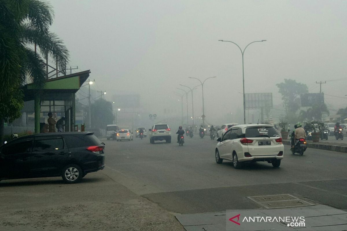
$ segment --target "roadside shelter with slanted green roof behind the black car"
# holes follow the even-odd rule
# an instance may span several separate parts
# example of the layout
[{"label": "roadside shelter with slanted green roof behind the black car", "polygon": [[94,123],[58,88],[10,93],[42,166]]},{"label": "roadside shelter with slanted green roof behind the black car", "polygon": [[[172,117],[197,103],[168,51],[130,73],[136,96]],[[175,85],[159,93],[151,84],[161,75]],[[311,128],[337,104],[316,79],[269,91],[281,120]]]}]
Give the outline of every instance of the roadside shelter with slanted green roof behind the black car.
[{"label": "roadside shelter with slanted green roof behind the black car", "polygon": [[65,131],[74,131],[76,125],[75,94],[88,79],[90,70],[69,74],[45,81],[38,89],[33,83],[23,86],[24,101],[34,100],[35,133],[40,133],[48,113],[57,119],[65,117]]}]

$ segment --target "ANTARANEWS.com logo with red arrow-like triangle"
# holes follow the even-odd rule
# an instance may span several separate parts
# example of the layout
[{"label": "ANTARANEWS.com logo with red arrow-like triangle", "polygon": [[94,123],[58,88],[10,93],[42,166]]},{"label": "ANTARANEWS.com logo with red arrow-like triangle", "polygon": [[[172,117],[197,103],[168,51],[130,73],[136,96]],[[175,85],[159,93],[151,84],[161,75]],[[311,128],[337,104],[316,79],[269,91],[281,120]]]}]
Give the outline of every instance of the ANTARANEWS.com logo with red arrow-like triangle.
[{"label": "ANTARANEWS.com logo with red arrow-like triangle", "polygon": [[[241,214],[233,216],[229,221],[241,225],[238,221]],[[237,218],[237,221],[235,221]],[[245,222],[276,222],[276,223],[286,223],[290,227],[304,227],[305,217],[304,216],[245,216],[242,219],[242,223]]]}]

